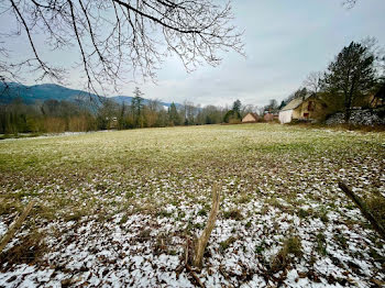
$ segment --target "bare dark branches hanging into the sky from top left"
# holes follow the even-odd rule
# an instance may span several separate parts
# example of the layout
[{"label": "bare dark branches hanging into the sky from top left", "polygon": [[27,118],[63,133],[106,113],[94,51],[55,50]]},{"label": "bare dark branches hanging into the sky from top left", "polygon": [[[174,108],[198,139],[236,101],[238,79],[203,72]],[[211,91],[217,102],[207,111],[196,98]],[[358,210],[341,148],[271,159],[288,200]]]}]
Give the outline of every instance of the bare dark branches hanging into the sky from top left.
[{"label": "bare dark branches hanging into the sky from top left", "polygon": [[[25,70],[63,81],[65,67],[44,57],[36,34],[50,48],[75,49],[91,91],[118,87],[132,73],[153,78],[162,60],[177,55],[187,70],[221,62],[220,52],[243,53],[242,33],[231,24],[230,2],[215,0],[6,0],[0,13],[15,19],[16,31],[0,31],[0,77],[12,80]],[[10,27],[2,27],[2,30]],[[12,27],[14,29],[14,27]],[[1,30],[1,29],[0,29]],[[4,38],[28,38],[32,57],[8,60]],[[2,40],[1,40],[2,38]]]}]

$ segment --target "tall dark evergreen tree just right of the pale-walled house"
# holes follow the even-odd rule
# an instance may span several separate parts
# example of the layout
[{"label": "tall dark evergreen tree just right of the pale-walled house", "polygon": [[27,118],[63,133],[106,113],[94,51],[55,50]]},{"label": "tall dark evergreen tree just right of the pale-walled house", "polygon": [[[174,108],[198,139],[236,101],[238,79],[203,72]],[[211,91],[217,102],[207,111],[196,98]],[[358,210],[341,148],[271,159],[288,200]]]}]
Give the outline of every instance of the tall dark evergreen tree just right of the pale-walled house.
[{"label": "tall dark evergreen tree just right of the pale-walled house", "polygon": [[374,55],[361,43],[352,42],[343,47],[329,64],[324,85],[336,96],[343,97],[345,122],[350,119],[354,100],[370,91],[375,80]]}]

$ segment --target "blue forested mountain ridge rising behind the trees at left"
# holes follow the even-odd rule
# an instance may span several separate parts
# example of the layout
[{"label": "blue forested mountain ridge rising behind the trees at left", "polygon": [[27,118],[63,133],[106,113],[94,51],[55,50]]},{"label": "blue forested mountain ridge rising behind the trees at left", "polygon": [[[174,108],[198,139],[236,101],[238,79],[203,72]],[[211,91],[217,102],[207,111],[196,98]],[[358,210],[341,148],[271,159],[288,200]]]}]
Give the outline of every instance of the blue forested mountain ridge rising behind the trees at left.
[{"label": "blue forested mountain ridge rising behind the trees at left", "polygon": [[[0,82],[0,104],[10,103],[16,98],[21,98],[26,104],[33,104],[36,101],[44,102],[45,100],[50,99],[57,101],[66,100],[70,102],[100,103],[100,100],[103,99],[103,97],[98,97],[94,93],[88,93],[82,90],[69,89],[55,84],[25,86],[15,82]],[[129,96],[113,96],[108,99],[111,99],[119,104],[123,102],[125,104],[130,104],[132,101],[132,97]],[[147,103],[148,101],[148,99],[144,99],[144,103]],[[170,106],[170,103],[166,102],[161,102],[161,104],[164,107]]]}]

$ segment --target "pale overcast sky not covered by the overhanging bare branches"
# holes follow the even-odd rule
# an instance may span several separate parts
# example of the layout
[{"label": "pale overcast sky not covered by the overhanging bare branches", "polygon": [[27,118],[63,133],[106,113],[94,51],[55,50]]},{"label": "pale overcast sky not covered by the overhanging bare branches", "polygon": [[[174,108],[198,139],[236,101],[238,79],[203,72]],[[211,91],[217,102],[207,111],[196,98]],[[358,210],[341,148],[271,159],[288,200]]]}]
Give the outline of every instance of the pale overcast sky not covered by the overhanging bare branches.
[{"label": "pale overcast sky not covered by the overhanging bare branches", "polygon": [[[264,106],[271,99],[279,102],[298,89],[310,71],[324,70],[351,41],[372,36],[380,46],[385,46],[385,1],[359,0],[352,9],[343,7],[342,1],[233,0],[234,24],[244,31],[246,57],[229,52],[222,55],[219,67],[204,65],[193,73],[187,73],[176,57],[169,57],[157,71],[155,84],[128,84],[121,87],[120,95],[132,96],[138,86],[144,98],[166,102],[188,100],[202,106],[231,106],[237,99],[253,106]],[[0,25],[12,22],[0,16]],[[9,41],[14,42],[11,45],[18,53],[29,53],[30,47],[20,45],[20,38]],[[73,51],[59,55],[61,59],[73,57]],[[69,75],[67,87],[82,88],[77,69]],[[26,84],[35,82],[28,78]]]}]

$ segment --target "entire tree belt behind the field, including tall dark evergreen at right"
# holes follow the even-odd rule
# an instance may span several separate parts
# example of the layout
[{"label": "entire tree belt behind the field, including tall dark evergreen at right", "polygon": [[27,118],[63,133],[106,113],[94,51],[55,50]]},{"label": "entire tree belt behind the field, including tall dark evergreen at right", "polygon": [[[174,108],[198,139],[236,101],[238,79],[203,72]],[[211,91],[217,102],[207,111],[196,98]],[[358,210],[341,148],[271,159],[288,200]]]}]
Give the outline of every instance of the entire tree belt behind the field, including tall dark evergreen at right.
[{"label": "entire tree belt behind the field, including tall dark evergreen at right", "polygon": [[98,106],[80,102],[46,100],[25,104],[15,99],[0,104],[0,133],[59,133],[65,131],[95,131],[106,129],[163,128],[176,125],[202,125],[240,123],[249,112],[260,115],[277,113],[295,98],[314,93],[324,103],[318,118],[342,111],[345,121],[354,107],[370,108],[373,101],[384,104],[385,54],[375,46],[374,40],[351,42],[343,47],[324,71],[310,73],[304,87],[277,103],[272,99],[265,107],[242,106],[240,100],[232,107],[195,106],[185,101],[164,107],[157,100],[144,100],[139,88],[131,103],[117,103],[108,98]]}]

